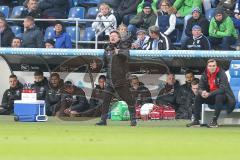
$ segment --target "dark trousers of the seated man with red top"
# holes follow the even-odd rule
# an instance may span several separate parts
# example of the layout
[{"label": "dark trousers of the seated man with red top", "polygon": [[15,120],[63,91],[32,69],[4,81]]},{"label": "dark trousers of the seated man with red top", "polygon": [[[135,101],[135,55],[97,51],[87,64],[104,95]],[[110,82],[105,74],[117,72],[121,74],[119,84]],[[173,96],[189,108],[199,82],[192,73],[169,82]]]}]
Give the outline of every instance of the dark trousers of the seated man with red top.
[{"label": "dark trousers of the seated man with red top", "polygon": [[202,111],[202,104],[214,105],[215,113],[213,118],[217,120],[225,103],[226,103],[225,94],[217,94],[214,96],[209,96],[208,98],[203,98],[201,95],[197,95],[195,99],[195,110],[194,110],[195,120],[201,119],[200,114]]}]

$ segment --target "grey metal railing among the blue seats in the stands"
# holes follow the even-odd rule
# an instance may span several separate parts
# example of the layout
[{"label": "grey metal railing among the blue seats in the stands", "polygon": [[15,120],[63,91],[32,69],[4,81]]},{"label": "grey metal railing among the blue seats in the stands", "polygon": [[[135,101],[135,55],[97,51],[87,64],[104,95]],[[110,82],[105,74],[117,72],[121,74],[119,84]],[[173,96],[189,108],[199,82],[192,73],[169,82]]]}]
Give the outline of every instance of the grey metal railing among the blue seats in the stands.
[{"label": "grey metal railing among the blue seats in the stands", "polygon": [[[23,21],[24,19],[23,18],[8,18],[6,19],[8,22],[11,22],[11,21]],[[43,21],[43,22],[53,22],[53,21],[63,21],[63,22],[75,22],[75,27],[76,27],[76,35],[75,35],[75,48],[78,49],[78,44],[79,43],[90,43],[90,44],[95,44],[95,49],[98,48],[98,36],[100,34],[102,34],[107,28],[109,28],[111,24],[109,24],[109,26],[103,28],[101,31],[99,32],[96,32],[95,31],[95,41],[80,41],[78,39],[78,35],[80,33],[78,33],[78,28],[79,28],[79,24],[81,24],[82,22],[111,22],[109,20],[95,20],[95,19],[80,19],[80,18],[69,18],[69,19],[34,19],[35,22],[38,22],[38,21]],[[104,42],[100,42],[100,43],[104,43]]]}]

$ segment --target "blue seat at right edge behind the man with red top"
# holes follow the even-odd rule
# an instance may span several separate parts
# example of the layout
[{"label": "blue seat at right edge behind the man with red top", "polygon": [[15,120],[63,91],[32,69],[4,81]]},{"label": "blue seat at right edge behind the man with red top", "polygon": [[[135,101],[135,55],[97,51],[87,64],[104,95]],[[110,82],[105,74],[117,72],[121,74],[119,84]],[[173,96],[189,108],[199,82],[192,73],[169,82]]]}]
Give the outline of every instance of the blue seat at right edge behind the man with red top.
[{"label": "blue seat at right edge behind the man with red top", "polygon": [[230,86],[236,99],[236,107],[240,108],[240,60],[232,60],[229,68]]}]

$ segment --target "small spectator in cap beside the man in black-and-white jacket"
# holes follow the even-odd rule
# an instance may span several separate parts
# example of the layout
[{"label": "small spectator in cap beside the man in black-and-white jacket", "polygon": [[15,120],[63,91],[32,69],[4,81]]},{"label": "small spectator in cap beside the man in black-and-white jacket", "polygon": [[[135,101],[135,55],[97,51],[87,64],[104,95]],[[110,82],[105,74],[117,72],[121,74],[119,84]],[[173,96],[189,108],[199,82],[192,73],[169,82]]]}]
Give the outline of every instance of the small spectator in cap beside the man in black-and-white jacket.
[{"label": "small spectator in cap beside the man in black-and-white jacket", "polygon": [[145,30],[137,31],[137,40],[132,43],[131,49],[143,49],[145,50],[148,46],[149,36],[146,34]]}]

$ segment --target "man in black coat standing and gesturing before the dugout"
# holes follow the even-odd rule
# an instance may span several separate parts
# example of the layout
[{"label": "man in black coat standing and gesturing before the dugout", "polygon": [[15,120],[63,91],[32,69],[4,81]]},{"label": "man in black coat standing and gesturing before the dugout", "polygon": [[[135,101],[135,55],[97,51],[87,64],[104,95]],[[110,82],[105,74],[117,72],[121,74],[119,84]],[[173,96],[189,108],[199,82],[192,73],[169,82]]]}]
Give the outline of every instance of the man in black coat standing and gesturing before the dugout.
[{"label": "man in black coat standing and gesturing before the dugout", "polygon": [[[96,125],[107,125],[107,114],[112,97],[125,101],[130,112],[131,126],[136,126],[134,100],[130,91],[128,58],[131,43],[121,41],[118,31],[110,32],[110,43],[106,46],[103,57],[103,68],[106,70],[106,86],[103,95],[103,107],[101,120]],[[96,63],[92,63],[92,69],[97,68]]]}]

